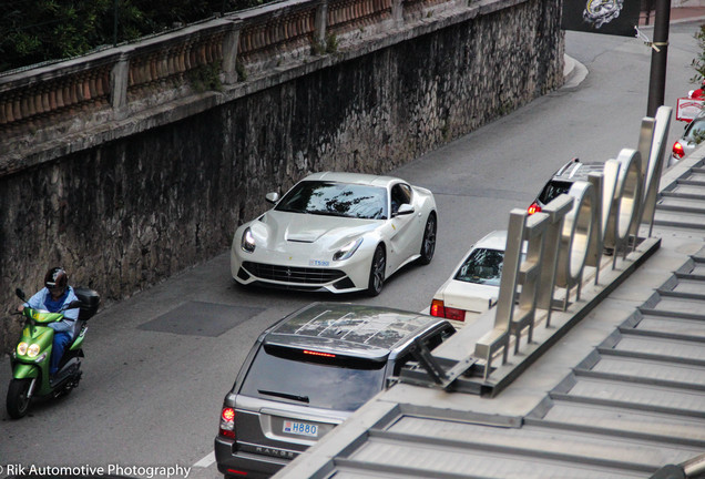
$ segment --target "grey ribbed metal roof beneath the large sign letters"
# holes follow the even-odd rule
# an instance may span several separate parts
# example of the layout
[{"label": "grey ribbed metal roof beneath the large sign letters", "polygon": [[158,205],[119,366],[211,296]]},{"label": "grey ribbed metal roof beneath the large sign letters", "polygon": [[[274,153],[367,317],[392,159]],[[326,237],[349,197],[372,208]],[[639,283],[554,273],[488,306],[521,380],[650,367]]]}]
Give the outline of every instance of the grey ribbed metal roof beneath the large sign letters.
[{"label": "grey ribbed metal roof beneath the large sign letters", "polygon": [[[626,267],[617,265],[612,277],[601,272],[604,296],[591,299],[585,288],[584,298],[554,314],[551,328],[537,328],[541,343],[548,329],[570,326],[550,348],[530,345],[510,355],[474,390],[483,396],[471,387],[452,393],[398,384],[276,478],[646,479],[703,455],[702,164],[686,160],[664,175],[653,256],[613,291],[605,284],[622,281]],[[484,329],[461,330],[438,355],[471,351],[488,322],[473,327]],[[537,350],[540,357],[529,359]],[[502,378],[510,384],[493,390]]]}]

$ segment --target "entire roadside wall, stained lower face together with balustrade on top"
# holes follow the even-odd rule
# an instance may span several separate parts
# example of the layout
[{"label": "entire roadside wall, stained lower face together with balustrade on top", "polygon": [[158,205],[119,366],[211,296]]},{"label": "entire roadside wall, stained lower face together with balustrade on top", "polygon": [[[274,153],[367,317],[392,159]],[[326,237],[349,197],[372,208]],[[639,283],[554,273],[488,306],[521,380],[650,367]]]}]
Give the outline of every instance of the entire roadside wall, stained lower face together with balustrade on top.
[{"label": "entire roadside wall, stained lower face together with balustrade on top", "polygon": [[[385,173],[562,83],[558,0],[395,2],[266,6],[55,65],[67,78],[0,78],[1,99],[42,92],[11,121],[0,100],[0,347],[12,292],[51,265],[119,300],[226,251],[266,192]],[[213,64],[221,83],[195,88]]]}]

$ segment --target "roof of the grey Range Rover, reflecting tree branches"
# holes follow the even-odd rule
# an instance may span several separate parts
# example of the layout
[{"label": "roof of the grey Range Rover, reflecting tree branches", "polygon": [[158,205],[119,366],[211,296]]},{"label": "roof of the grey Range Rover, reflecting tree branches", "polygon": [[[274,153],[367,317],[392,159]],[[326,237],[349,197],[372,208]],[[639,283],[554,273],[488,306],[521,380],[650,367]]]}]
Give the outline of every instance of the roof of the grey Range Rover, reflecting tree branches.
[{"label": "roof of the grey Range Rover, reflecting tree branches", "polygon": [[314,303],[265,332],[263,343],[380,358],[402,348],[418,332],[442,320],[379,306]]}]

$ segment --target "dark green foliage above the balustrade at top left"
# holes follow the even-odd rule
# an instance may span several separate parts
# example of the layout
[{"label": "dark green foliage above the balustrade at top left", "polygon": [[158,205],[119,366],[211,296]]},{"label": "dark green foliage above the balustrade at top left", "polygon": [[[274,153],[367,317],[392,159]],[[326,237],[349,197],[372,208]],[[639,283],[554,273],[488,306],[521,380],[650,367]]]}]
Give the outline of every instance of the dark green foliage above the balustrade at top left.
[{"label": "dark green foliage above the balustrade at top left", "polygon": [[0,71],[84,54],[102,45],[131,41],[176,24],[193,23],[263,2],[0,0]]}]

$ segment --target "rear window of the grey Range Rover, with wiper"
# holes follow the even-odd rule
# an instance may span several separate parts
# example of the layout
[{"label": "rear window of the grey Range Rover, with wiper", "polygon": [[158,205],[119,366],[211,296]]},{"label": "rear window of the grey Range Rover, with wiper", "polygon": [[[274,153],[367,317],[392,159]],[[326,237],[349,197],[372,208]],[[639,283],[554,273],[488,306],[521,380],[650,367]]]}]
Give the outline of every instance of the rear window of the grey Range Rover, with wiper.
[{"label": "rear window of the grey Range Rover, with wiper", "polygon": [[382,389],[385,365],[386,361],[326,357],[266,345],[257,351],[239,393],[354,411]]}]

